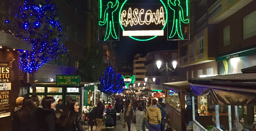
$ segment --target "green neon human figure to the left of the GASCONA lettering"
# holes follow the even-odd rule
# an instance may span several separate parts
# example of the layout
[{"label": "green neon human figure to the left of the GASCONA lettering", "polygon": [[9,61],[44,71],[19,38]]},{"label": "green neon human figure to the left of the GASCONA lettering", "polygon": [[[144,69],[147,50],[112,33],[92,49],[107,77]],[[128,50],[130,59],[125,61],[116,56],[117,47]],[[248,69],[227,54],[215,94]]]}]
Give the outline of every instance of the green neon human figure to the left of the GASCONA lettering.
[{"label": "green neon human figure to the left of the GASCONA lettering", "polygon": [[[118,5],[119,5],[118,0],[116,0],[115,5],[113,5],[112,2],[109,2],[108,8],[104,12],[104,20],[99,21],[100,26],[103,26],[107,23],[107,30],[106,30],[104,41],[106,41],[109,38],[110,34],[112,35],[113,38],[117,39],[117,34],[114,27],[113,13],[118,9]],[[100,7],[100,9],[102,9],[102,7]]]}]

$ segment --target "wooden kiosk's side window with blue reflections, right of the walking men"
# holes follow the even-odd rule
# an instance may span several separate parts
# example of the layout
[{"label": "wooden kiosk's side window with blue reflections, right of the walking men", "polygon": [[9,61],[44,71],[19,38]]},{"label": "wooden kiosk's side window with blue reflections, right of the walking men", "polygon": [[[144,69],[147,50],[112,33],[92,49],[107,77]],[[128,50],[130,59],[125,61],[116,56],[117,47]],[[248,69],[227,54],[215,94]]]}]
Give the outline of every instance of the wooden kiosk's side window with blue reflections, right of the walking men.
[{"label": "wooden kiosk's side window with blue reflections, right of the walking men", "polygon": [[178,93],[174,90],[168,90],[168,103],[177,109],[178,111],[181,111],[181,105],[180,105],[180,99],[178,96]]}]

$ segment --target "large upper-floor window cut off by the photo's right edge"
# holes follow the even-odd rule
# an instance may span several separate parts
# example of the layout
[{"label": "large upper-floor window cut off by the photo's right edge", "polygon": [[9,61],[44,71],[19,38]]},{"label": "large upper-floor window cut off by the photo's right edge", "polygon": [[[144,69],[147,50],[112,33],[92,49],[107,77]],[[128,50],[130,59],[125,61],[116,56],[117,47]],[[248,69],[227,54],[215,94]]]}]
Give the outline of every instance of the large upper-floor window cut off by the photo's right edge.
[{"label": "large upper-floor window cut off by the photo's right edge", "polygon": [[245,16],[243,19],[244,24],[244,39],[256,35],[256,11]]}]

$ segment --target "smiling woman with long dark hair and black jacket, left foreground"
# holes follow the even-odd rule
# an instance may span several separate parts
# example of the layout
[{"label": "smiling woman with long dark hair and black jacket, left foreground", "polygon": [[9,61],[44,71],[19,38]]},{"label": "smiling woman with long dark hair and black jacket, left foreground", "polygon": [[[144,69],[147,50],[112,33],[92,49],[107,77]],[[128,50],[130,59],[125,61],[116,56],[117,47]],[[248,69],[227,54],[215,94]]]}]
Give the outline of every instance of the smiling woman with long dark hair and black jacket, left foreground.
[{"label": "smiling woman with long dark hair and black jacket, left foreground", "polygon": [[78,102],[71,99],[67,102],[63,113],[60,115],[57,122],[58,131],[83,131],[83,122],[78,114]]}]

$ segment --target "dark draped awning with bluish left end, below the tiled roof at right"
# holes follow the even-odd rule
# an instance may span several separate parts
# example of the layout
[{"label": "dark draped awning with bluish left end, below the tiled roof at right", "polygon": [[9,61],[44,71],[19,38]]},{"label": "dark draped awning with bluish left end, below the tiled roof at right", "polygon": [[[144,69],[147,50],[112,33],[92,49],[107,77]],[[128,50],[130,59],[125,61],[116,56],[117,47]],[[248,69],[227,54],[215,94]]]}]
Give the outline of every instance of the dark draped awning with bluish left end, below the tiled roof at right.
[{"label": "dark draped awning with bluish left end, below the tiled roof at right", "polygon": [[198,96],[210,95],[214,105],[255,105],[255,92],[246,92],[230,89],[212,88],[212,86],[190,85],[194,94]]}]

